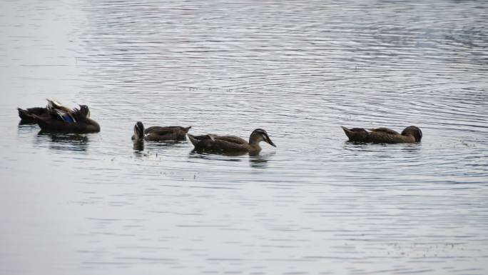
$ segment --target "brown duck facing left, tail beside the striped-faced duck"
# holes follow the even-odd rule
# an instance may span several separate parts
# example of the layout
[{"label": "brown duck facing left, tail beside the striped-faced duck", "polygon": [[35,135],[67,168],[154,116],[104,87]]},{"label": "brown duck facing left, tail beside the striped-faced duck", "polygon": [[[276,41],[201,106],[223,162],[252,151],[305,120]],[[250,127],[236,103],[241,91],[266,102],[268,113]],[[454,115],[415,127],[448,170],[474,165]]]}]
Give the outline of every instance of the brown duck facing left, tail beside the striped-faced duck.
[{"label": "brown duck facing left, tail beside the striped-faced duck", "polygon": [[190,130],[191,126],[151,126],[148,129],[144,129],[144,124],[141,121],[137,121],[134,125],[134,134],[132,136],[133,141],[182,141],[186,139],[186,134]]}]

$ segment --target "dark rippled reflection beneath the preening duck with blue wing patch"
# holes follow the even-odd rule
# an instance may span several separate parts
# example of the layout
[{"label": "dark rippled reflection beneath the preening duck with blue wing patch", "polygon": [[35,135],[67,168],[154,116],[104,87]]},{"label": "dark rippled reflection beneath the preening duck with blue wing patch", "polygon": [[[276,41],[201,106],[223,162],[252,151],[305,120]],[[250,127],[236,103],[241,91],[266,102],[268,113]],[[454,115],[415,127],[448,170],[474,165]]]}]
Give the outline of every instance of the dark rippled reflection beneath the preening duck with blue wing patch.
[{"label": "dark rippled reflection beneath the preening duck with blue wing patch", "polygon": [[46,131],[39,131],[39,139],[36,143],[49,141],[49,149],[62,151],[86,151],[90,139],[86,134],[54,134]]}]

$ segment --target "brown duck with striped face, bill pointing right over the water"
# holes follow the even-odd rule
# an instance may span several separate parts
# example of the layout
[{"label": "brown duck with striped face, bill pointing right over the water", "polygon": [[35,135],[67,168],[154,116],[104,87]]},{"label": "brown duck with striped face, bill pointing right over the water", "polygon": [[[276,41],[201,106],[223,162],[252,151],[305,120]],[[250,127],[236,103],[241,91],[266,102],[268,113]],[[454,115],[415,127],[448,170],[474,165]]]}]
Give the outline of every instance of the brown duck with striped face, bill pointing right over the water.
[{"label": "brown duck with striped face, bill pointing right over the water", "polygon": [[268,133],[263,129],[255,129],[249,136],[249,142],[238,136],[218,136],[206,134],[193,136],[188,134],[195,150],[197,151],[220,151],[224,153],[243,152],[258,154],[261,151],[260,142],[265,141],[271,146],[276,145],[271,141]]}]

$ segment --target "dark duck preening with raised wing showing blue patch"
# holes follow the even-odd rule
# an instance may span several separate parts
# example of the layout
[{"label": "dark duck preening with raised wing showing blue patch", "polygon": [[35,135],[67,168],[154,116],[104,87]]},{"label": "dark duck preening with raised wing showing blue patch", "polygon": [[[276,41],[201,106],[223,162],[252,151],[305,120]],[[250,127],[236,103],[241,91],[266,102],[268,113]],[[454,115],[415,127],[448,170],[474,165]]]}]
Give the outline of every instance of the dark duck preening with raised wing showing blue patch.
[{"label": "dark duck preening with raised wing showing blue patch", "polygon": [[100,125],[90,119],[90,109],[86,105],[80,105],[79,109],[69,112],[61,109],[48,110],[47,115],[38,116],[32,114],[41,131],[63,132],[73,134],[96,133],[100,131]]}]

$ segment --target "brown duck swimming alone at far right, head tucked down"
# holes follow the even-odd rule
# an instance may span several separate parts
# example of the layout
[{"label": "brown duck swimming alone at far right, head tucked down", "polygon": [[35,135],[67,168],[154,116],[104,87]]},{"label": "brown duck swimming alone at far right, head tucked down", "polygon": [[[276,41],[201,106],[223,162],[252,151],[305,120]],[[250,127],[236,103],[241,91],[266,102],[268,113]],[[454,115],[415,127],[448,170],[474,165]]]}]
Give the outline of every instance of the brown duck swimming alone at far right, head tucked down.
[{"label": "brown duck swimming alone at far right, head tucked down", "polygon": [[408,126],[407,128],[403,129],[401,134],[388,128],[367,130],[363,128],[347,129],[344,126],[341,126],[341,128],[349,138],[349,141],[355,142],[370,142],[375,144],[413,144],[420,142],[422,139],[422,131],[417,126]]}]

